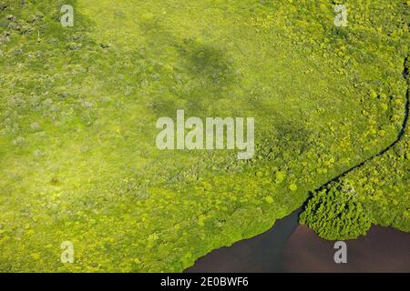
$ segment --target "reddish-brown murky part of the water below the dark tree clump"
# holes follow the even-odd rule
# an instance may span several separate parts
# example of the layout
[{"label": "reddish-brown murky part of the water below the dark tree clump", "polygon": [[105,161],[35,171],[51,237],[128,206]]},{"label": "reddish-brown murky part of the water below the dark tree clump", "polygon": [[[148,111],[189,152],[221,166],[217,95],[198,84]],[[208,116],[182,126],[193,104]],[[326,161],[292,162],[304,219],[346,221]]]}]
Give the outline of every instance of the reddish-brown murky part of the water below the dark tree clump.
[{"label": "reddish-brown murky part of the water below the dark tree clump", "polygon": [[347,264],[334,263],[334,242],[298,226],[284,247],[288,272],[410,273],[410,234],[392,227],[372,226],[366,236],[346,241]]}]

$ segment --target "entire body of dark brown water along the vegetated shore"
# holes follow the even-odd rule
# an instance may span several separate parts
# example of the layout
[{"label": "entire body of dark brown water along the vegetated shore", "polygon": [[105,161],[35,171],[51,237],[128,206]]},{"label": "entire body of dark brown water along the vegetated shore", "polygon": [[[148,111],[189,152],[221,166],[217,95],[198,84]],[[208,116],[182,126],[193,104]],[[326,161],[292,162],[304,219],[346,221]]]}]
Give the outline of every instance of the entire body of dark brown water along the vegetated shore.
[{"label": "entire body of dark brown water along the vegetated shore", "polygon": [[410,234],[372,226],[346,241],[347,264],[336,264],[334,242],[298,225],[301,209],[279,219],[261,236],[201,257],[187,273],[405,272],[410,273]]}]

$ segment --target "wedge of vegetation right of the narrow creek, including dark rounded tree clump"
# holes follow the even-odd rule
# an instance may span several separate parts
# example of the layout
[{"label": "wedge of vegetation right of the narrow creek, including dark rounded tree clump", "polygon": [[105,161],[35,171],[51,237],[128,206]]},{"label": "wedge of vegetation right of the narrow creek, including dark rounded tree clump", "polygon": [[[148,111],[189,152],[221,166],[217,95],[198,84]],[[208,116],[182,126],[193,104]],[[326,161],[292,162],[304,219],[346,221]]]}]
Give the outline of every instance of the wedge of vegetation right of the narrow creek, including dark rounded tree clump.
[{"label": "wedge of vegetation right of the narrow creek, including dark rounded tree clump", "polygon": [[[407,82],[410,81],[409,67],[410,62],[406,58],[404,76]],[[300,222],[324,239],[331,240],[363,236],[371,224],[394,226],[410,232],[408,121],[404,126],[398,142],[387,151],[338,182],[315,191]]]}]

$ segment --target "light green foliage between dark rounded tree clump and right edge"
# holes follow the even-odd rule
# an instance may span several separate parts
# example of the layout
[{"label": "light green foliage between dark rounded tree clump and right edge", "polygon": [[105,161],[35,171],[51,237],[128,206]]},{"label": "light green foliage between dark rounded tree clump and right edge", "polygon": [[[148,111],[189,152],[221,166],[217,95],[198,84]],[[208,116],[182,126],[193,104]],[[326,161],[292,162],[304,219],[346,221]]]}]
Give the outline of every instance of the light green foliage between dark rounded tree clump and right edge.
[{"label": "light green foliage between dark rounded tree clump and right edge", "polygon": [[402,140],[345,177],[371,216],[374,225],[410,232],[410,131]]}]

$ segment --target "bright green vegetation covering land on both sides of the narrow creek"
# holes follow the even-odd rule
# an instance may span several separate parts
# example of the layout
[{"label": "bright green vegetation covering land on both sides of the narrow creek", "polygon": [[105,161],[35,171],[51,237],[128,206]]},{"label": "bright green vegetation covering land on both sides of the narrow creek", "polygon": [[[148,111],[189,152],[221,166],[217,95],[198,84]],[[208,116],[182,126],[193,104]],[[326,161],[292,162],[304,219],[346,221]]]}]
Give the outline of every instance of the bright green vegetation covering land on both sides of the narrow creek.
[{"label": "bright green vegetation covering land on both sides of the narrow creek", "polygon": [[[345,1],[335,27],[334,2],[0,0],[0,271],[179,272],[391,145],[408,4]],[[255,158],[159,151],[156,121],[177,109],[255,117]],[[410,231],[408,146],[346,176],[354,200],[335,186],[311,205],[329,193],[343,221],[364,209]]]}]

